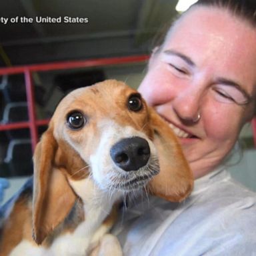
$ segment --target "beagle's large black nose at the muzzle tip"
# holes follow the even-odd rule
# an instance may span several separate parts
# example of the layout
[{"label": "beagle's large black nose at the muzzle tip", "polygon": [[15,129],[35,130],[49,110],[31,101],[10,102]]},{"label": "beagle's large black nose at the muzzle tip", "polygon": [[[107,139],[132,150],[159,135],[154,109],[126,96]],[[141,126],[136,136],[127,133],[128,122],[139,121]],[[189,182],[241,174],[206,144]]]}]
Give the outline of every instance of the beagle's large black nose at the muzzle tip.
[{"label": "beagle's large black nose at the muzzle tip", "polygon": [[137,171],[149,160],[149,143],[141,137],[122,139],[111,147],[110,155],[124,171]]}]

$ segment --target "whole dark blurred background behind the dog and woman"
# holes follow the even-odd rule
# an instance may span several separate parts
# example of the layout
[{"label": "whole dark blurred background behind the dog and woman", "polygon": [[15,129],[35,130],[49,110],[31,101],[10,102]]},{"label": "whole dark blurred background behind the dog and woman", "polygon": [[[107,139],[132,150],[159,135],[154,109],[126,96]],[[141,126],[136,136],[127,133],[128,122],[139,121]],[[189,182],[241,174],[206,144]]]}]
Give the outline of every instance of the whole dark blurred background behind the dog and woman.
[{"label": "whole dark blurred background behind the dog and woman", "polygon": [[[33,141],[45,131],[59,100],[77,87],[104,79],[137,88],[155,41],[185,8],[177,0],[0,1],[0,177],[11,181],[5,200],[33,173]],[[77,61],[83,65],[42,69],[49,63]],[[33,125],[36,136],[31,134]],[[250,124],[228,165],[235,179],[256,191]]]}]

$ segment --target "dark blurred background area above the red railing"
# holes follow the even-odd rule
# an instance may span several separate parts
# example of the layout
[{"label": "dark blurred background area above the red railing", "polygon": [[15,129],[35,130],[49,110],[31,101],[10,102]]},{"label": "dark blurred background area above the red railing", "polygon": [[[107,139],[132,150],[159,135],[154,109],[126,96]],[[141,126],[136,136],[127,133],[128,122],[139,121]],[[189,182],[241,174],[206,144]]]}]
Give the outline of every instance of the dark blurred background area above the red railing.
[{"label": "dark blurred background area above the red railing", "polygon": [[[9,18],[0,23],[1,65],[148,53],[155,32],[176,15],[176,5],[176,0],[0,1],[1,16]],[[33,23],[21,23],[22,17]],[[39,17],[62,19],[43,23]],[[64,17],[88,22],[65,23]]]}]

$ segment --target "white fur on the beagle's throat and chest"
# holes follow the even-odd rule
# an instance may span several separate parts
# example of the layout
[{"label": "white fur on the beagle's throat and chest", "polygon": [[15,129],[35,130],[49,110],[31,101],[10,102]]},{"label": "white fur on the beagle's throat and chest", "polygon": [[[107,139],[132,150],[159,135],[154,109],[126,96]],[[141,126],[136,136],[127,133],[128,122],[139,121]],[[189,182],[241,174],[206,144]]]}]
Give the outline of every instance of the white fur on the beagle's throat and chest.
[{"label": "white fur on the beagle's throat and chest", "polygon": [[91,243],[97,243],[107,233],[103,223],[120,195],[110,195],[99,190],[91,179],[69,181],[74,191],[83,200],[85,221],[80,223],[73,233],[65,233],[55,238],[49,249],[37,247],[29,241],[21,241],[11,252],[11,256],[84,256]]}]

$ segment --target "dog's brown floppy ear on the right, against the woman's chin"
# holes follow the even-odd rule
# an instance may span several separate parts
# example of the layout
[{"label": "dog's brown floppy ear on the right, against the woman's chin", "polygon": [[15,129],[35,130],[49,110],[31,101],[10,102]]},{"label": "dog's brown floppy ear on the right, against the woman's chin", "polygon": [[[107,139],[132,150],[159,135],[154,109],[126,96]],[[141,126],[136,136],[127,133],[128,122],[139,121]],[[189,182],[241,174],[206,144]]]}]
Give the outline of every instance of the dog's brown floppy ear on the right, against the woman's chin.
[{"label": "dog's brown floppy ear on the right, against the woman's chin", "polygon": [[160,165],[160,173],[149,182],[149,192],[169,201],[182,201],[193,189],[193,174],[167,122],[152,108],[149,113]]}]

